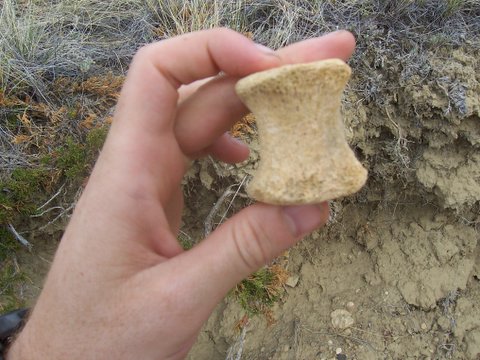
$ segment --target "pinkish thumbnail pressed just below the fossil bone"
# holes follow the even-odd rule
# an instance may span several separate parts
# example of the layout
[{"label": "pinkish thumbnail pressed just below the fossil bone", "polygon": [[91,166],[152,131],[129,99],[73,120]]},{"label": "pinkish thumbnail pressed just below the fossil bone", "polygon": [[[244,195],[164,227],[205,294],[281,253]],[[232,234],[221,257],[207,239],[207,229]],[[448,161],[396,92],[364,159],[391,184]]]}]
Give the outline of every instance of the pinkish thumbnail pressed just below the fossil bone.
[{"label": "pinkish thumbnail pressed just below the fossil bone", "polygon": [[325,224],[328,219],[328,205],[288,206],[283,212],[289,219],[294,236],[304,236]]}]

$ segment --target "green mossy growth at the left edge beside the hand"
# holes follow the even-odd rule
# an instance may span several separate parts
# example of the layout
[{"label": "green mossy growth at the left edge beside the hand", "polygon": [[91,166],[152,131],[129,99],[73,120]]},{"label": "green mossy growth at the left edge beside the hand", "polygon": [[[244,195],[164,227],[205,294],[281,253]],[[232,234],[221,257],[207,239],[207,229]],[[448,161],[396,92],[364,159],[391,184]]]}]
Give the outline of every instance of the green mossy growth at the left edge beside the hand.
[{"label": "green mossy growth at the left edge beside the hand", "polygon": [[60,181],[78,188],[89,174],[106,134],[107,128],[102,127],[90,130],[84,142],[69,138],[53,155],[39,158],[35,166],[17,167],[0,180],[0,313],[25,304],[18,288],[26,277],[15,261],[20,245],[7,231],[7,224],[21,226],[25,219],[37,214],[38,206]]}]

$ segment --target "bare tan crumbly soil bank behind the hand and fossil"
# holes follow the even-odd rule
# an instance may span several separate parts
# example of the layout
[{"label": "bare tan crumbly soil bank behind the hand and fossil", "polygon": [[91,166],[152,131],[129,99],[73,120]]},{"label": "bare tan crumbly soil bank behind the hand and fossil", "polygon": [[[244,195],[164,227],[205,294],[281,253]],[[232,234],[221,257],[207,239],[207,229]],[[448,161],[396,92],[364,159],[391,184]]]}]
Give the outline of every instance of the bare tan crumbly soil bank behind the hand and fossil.
[{"label": "bare tan crumbly soil bank behind the hand and fossil", "polygon": [[[480,54],[450,49],[428,58],[423,78],[385,60],[379,71],[396,85],[380,103],[356,90],[363,80],[352,64],[343,113],[367,185],[332,202],[327,226],[284,255],[298,282],[285,285],[273,324],[251,317],[242,341],[245,311],[228,296],[189,359],[223,360],[234,345],[242,359],[480,358]],[[183,240],[199,241],[250,203],[244,186],[258,143],[248,142],[245,163],[204,159],[189,171]],[[46,259],[55,247],[48,244],[36,246]],[[48,267],[36,259],[34,284]],[[346,328],[332,325],[340,309],[353,318]]]}]

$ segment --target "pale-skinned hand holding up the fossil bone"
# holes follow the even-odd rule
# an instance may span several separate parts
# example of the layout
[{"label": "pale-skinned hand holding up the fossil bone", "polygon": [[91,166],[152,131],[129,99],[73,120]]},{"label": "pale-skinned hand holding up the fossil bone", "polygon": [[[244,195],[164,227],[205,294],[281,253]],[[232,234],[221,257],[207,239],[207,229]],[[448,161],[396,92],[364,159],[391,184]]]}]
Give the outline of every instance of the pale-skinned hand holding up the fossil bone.
[{"label": "pale-skinned hand holding up the fossil bone", "polygon": [[44,289],[7,359],[185,358],[235,284],[328,218],[327,204],[255,204],[183,251],[180,182],[190,161],[248,157],[248,147],[227,134],[247,112],[234,92],[238,78],[285,64],[346,60],[354,46],[353,36],[340,31],[272,52],[214,29],[142,48]]}]

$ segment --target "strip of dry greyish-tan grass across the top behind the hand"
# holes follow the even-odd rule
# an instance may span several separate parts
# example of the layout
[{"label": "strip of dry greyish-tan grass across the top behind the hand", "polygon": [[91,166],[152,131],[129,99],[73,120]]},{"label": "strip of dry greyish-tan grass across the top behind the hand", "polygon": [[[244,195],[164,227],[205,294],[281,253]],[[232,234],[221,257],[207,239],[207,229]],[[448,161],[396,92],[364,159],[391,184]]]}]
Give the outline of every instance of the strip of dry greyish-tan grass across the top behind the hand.
[{"label": "strip of dry greyish-tan grass across the top behind the hand", "polygon": [[[5,0],[0,13],[0,93],[7,98],[28,97],[44,112],[57,112],[57,118],[66,118],[60,109],[75,108],[67,113],[80,113],[89,127],[94,120],[86,118],[98,117],[104,107],[88,98],[72,104],[75,89],[62,82],[83,84],[88,92],[88,86],[105,74],[123,76],[135,51],[155,39],[226,26],[278,48],[346,28],[358,43],[352,64],[359,81],[352,91],[384,106],[390,84],[377,70],[385,59],[395,59],[403,69],[401,79],[425,76],[429,71],[426,49],[466,42],[480,47],[479,18],[476,0]],[[462,93],[457,93],[452,101],[461,104]],[[0,111],[1,157],[10,159],[9,167],[31,164],[16,143],[28,139],[13,139],[18,134],[5,127],[11,116],[5,106],[7,110]],[[21,111],[18,106],[12,109]],[[78,124],[65,120],[74,136],[81,138]],[[32,121],[35,126],[36,118]],[[234,135],[252,131],[249,121],[241,124],[234,127]]]}]

